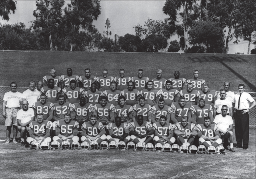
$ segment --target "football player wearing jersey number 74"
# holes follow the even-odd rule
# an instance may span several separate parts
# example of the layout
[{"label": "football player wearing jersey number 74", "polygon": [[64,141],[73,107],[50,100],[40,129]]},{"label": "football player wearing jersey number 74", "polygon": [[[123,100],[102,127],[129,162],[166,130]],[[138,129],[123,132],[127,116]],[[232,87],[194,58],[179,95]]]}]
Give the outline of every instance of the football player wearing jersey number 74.
[{"label": "football player wearing jersey number 74", "polygon": [[126,104],[124,96],[119,97],[119,105],[115,106],[115,108],[118,117],[125,119],[128,124],[132,122],[133,107]]}]

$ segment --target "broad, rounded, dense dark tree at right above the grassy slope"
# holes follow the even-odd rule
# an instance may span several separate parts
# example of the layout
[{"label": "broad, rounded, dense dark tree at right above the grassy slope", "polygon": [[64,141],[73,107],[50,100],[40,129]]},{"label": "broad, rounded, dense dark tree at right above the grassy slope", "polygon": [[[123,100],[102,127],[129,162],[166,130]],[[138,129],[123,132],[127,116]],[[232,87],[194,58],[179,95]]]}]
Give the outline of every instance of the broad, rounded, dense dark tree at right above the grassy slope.
[{"label": "broad, rounded, dense dark tree at right above the grassy slope", "polygon": [[189,43],[193,45],[204,44],[206,53],[222,53],[224,47],[223,28],[218,22],[198,21],[189,33]]}]

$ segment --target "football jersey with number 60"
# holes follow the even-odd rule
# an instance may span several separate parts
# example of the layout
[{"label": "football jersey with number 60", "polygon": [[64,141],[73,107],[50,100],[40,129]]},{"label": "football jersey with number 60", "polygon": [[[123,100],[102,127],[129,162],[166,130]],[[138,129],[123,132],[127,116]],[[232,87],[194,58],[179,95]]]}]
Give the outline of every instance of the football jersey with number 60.
[{"label": "football jersey with number 60", "polygon": [[84,89],[76,87],[74,90],[70,87],[62,89],[62,93],[67,96],[66,101],[71,104],[78,103],[80,97],[84,96]]}]

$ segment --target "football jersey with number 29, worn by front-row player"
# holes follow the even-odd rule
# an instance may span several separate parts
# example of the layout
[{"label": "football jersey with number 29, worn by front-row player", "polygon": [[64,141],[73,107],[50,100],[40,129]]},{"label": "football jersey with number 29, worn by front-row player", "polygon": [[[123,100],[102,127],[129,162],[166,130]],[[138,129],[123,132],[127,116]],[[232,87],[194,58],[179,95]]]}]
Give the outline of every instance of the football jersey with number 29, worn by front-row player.
[{"label": "football jersey with number 29, worn by front-row player", "polygon": [[115,123],[110,122],[107,125],[107,128],[108,128],[110,136],[112,134],[114,134],[116,136],[122,136],[122,135],[124,135],[124,133],[128,133],[129,134],[129,126],[128,126],[128,124],[126,122],[121,123],[121,125],[119,127],[117,127]]}]

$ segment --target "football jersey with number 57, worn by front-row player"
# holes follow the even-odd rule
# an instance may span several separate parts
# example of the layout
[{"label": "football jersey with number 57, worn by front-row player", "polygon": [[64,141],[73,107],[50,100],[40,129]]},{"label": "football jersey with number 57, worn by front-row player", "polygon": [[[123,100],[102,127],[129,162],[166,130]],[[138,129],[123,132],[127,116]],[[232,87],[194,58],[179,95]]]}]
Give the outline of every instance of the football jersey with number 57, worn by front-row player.
[{"label": "football jersey with number 57, worn by front-row player", "polygon": [[160,122],[155,122],[153,124],[153,129],[156,131],[155,135],[162,139],[162,135],[165,137],[173,137],[172,124],[170,122],[165,122],[164,126]]}]

